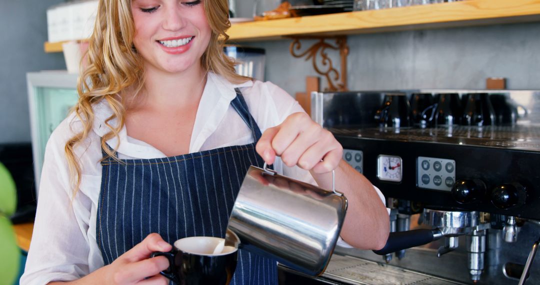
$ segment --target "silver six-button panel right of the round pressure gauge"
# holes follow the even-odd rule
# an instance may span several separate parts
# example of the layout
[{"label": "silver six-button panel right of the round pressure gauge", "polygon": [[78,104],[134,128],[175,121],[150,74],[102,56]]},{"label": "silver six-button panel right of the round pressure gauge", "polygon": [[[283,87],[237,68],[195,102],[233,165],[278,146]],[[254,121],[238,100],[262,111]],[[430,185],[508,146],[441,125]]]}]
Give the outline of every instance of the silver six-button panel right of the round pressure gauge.
[{"label": "silver six-button panel right of the round pressure gauge", "polygon": [[450,191],[456,181],[456,161],[418,157],[416,183],[419,188]]}]

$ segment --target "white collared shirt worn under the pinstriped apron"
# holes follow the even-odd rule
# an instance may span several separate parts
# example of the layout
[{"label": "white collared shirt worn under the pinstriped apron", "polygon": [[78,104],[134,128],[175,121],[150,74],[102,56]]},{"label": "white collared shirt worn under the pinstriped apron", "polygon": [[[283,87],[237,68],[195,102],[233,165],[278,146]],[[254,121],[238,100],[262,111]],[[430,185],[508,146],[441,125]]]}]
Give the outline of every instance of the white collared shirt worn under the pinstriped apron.
[{"label": "white collared shirt worn under the pinstriped apron", "polygon": [[[297,101],[272,83],[248,81],[232,84],[217,74],[208,73],[193,126],[190,153],[253,142],[252,132],[230,105],[236,97],[236,87],[244,95],[249,112],[261,132],[281,124],[292,113],[303,112]],[[96,214],[102,180],[100,137],[109,132],[104,122],[112,111],[105,101],[95,105],[94,111],[92,131],[75,150],[82,165],[82,181],[75,198],[69,186],[70,172],[64,146],[82,124],[71,114],[60,123],[48,141],[36,220],[21,284],[72,281],[104,264],[96,242]],[[130,138],[125,126],[119,138],[112,138],[107,144],[113,148],[118,144],[120,159],[166,157],[157,148]],[[279,158],[274,168],[278,173],[315,184],[308,171],[296,166],[287,167]],[[384,201],[378,189],[377,192]]]}]

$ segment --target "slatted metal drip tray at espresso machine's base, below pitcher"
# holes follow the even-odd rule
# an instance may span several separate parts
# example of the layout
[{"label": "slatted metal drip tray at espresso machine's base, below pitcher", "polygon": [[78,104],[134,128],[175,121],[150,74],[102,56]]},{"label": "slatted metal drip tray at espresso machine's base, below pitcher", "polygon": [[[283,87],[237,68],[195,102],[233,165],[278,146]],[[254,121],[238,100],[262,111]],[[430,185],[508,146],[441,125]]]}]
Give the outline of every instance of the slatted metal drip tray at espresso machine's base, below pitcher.
[{"label": "slatted metal drip tray at espresso machine's base, below pitcher", "polygon": [[[334,254],[325,273],[319,277],[303,275],[280,266],[280,284],[365,284],[365,285],[456,285],[465,284],[400,267],[381,264],[353,256]],[[286,275],[296,275],[287,277]],[[311,281],[310,281],[311,280]],[[291,282],[292,281],[292,282]],[[317,281],[317,282],[315,282]]]}]

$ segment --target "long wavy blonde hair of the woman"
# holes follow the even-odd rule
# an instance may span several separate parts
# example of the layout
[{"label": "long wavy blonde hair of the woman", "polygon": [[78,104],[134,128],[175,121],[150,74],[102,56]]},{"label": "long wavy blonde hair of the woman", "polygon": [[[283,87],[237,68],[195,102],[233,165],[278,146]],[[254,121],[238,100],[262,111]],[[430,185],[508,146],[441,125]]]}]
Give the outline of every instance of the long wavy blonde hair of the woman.
[{"label": "long wavy blonde hair of the woman", "polygon": [[[106,141],[117,137],[125,124],[126,97],[137,94],[144,85],[143,58],[133,46],[136,30],[131,14],[132,0],[100,0],[96,24],[89,39],[86,53],[87,67],[77,83],[79,100],[73,107],[83,124],[82,131],[76,133],[65,144],[65,155],[70,169],[73,196],[80,186],[82,168],[75,148],[83,142],[92,130],[94,121],[93,105],[107,101],[113,114],[105,120],[109,132],[101,138],[101,146],[109,157],[118,160],[116,150],[111,150]],[[210,43],[201,65],[207,72],[220,74],[232,83],[246,82],[251,78],[239,76],[234,71],[234,59],[223,52],[228,39],[225,31],[230,28],[227,0],[203,0],[204,11],[212,30]],[[117,120],[112,125],[111,120]]]}]

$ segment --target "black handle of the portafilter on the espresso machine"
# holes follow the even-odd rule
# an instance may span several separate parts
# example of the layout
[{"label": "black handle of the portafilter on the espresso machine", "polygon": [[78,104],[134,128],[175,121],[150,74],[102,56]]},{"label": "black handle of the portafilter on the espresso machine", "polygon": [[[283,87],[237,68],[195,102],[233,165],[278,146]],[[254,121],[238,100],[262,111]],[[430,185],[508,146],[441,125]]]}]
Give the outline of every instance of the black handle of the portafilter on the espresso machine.
[{"label": "black handle of the portafilter on the espresso machine", "polygon": [[390,233],[386,245],[379,250],[373,250],[375,254],[385,255],[400,250],[426,245],[443,237],[440,229],[413,229],[404,232]]}]

